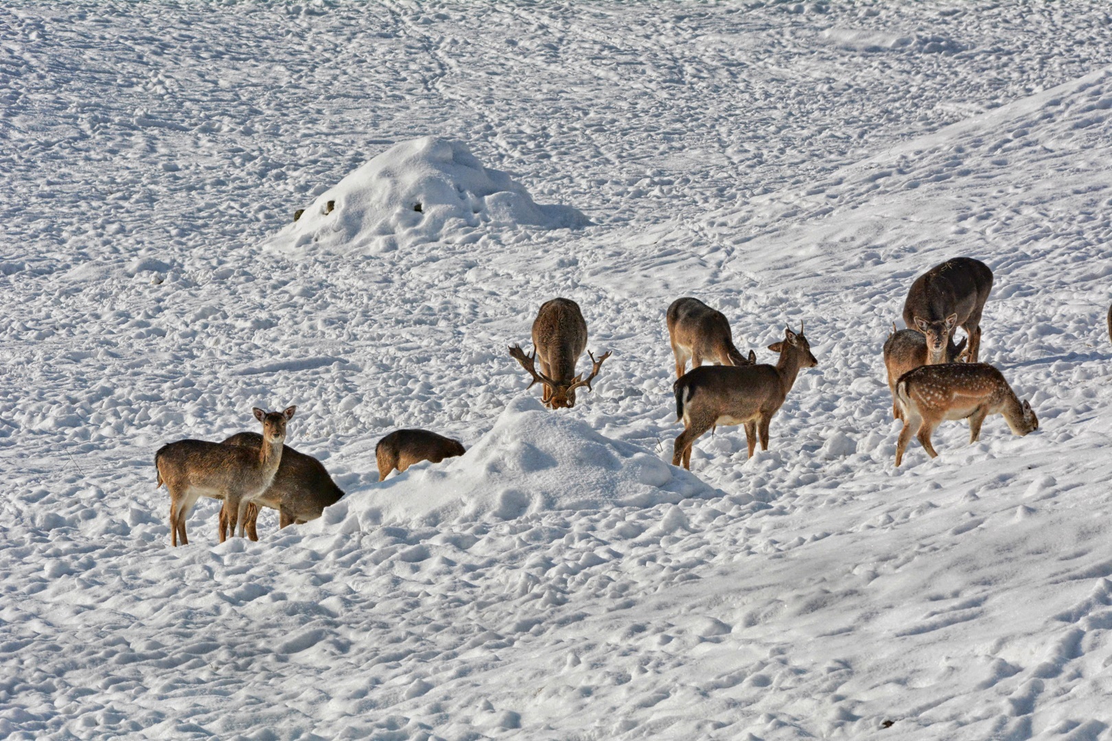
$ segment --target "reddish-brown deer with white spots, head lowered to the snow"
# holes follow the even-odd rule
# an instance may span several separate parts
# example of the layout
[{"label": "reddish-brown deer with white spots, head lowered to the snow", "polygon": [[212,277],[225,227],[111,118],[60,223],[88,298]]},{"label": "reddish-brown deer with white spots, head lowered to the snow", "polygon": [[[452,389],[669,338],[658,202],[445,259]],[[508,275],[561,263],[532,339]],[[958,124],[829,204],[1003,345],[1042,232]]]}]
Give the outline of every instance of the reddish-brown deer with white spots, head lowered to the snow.
[{"label": "reddish-brown deer with white spots, head lowered to the snow", "polygon": [[981,423],[989,414],[1003,414],[1007,427],[1021,437],[1039,429],[1031,404],[1021,402],[1003,374],[987,363],[916,368],[896,382],[896,400],[904,421],[896,443],[896,465],[916,432],[926,454],[935,458],[939,453],[931,444],[931,433],[943,420],[969,419],[970,444],[981,437]]}]

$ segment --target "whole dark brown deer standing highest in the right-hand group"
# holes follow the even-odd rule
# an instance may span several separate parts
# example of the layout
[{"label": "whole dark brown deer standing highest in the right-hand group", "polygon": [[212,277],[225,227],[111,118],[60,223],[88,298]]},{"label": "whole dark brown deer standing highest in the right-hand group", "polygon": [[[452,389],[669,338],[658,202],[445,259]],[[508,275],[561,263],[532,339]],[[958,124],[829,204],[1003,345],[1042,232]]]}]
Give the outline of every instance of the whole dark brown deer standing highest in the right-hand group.
[{"label": "whole dark brown deer standing highest in the right-hand group", "polygon": [[969,339],[965,360],[977,361],[981,312],[991,290],[992,270],[972,258],[946,260],[915,279],[904,301],[904,323],[926,337],[926,366],[945,362],[946,348],[959,327]]}]

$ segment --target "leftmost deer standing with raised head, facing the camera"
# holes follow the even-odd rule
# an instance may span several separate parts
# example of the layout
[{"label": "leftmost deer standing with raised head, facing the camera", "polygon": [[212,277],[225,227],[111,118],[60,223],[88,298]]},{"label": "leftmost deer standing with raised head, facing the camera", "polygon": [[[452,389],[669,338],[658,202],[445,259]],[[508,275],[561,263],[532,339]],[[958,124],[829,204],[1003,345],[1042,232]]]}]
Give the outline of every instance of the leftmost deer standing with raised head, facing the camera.
[{"label": "leftmost deer standing with raised head, facing the camera", "polygon": [[230,528],[239,524],[242,537],[247,505],[256,494],[270,485],[281,462],[282,443],[286,441],[286,422],[297,407],[282,412],[252,409],[262,423],[264,443],[258,450],[239,445],[225,445],[203,440],[179,440],[162,445],[155,453],[158,485],[166,484],[170,492],[170,541],[173,545],[186,537],[186,518],[199,497],[222,499]]}]

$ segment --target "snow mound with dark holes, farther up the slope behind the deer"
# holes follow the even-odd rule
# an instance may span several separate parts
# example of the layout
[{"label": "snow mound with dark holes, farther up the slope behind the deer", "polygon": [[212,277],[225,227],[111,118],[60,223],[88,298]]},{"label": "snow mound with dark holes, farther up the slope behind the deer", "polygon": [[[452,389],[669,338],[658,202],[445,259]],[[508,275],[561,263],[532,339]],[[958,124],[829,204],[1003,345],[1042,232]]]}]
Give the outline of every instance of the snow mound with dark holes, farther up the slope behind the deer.
[{"label": "snow mound with dark holes, farther up the slope behind the deer", "polygon": [[395,144],[326,190],[268,247],[285,252],[388,252],[461,237],[484,226],[575,229],[568,206],[539,206],[507,173],[458,141],[424,137]]}]

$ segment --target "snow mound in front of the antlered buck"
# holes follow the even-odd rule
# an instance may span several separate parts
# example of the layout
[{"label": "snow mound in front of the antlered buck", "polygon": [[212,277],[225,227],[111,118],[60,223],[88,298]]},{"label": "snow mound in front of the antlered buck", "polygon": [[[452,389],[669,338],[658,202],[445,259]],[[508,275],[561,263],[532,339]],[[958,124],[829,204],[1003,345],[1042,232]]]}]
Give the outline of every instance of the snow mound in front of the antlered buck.
[{"label": "snow mound in front of the antlered buck", "polygon": [[509,520],[553,510],[653,507],[722,495],[637,445],[519,397],[465,455],[419,463],[346,497],[328,508],[320,527],[321,532],[356,532],[391,522]]}]

